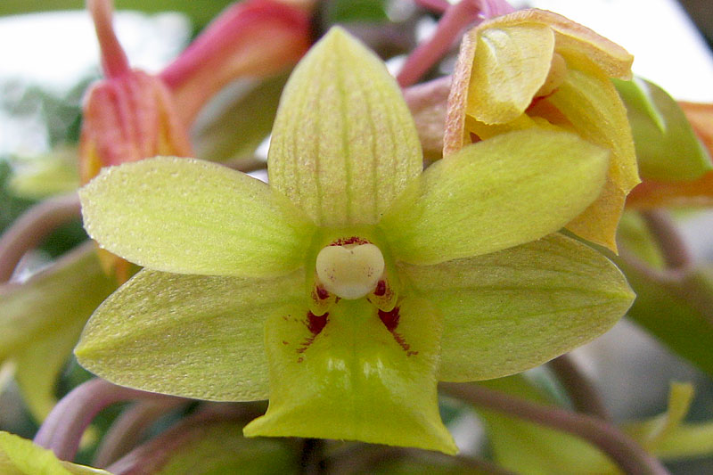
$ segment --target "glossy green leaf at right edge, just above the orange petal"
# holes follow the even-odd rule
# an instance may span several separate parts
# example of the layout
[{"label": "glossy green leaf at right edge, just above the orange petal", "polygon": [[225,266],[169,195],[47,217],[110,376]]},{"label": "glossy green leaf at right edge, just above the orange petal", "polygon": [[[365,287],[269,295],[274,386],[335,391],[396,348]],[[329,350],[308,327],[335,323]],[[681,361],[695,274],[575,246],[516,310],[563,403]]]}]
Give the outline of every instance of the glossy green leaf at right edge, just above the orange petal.
[{"label": "glossy green leaf at right edge, just above the orange petal", "polygon": [[615,79],[614,86],[627,105],[642,176],[693,180],[713,168],[684,111],[660,86],[642,78]]}]

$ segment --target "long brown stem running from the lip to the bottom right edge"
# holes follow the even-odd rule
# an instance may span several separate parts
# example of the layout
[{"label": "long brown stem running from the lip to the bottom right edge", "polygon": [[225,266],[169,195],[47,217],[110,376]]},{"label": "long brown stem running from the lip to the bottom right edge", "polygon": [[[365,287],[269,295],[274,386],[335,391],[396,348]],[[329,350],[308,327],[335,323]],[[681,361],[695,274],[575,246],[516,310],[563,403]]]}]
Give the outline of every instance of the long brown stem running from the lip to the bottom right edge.
[{"label": "long brown stem running from the lip to the bottom right edge", "polygon": [[571,413],[558,407],[536,405],[475,384],[445,382],[440,384],[440,389],[471,405],[514,415],[529,422],[584,438],[609,455],[615,463],[619,464],[621,470],[629,475],[668,475],[668,471],[659,460],[609,422],[585,414]]}]

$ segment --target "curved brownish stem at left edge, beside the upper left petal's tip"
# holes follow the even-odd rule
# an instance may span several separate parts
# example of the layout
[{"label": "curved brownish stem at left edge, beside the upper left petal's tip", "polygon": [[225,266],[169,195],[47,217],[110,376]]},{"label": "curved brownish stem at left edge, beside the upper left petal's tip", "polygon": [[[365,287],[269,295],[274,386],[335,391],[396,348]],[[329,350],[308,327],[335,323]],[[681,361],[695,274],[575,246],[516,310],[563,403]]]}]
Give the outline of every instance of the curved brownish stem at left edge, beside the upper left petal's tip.
[{"label": "curved brownish stem at left edge, beside the upper left petal's tip", "polygon": [[15,267],[59,226],[79,217],[77,193],[42,201],[25,211],[0,238],[0,283],[10,280]]}]

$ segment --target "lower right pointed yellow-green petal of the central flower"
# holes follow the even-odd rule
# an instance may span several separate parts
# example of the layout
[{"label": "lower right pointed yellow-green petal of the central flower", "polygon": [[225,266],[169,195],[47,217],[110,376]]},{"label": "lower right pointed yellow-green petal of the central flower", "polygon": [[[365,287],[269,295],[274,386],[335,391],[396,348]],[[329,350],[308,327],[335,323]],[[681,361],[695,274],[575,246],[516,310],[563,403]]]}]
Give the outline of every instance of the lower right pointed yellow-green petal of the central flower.
[{"label": "lower right pointed yellow-green petal of the central flower", "polygon": [[609,259],[560,234],[437,266],[399,266],[444,316],[443,381],[519,373],[594,340],[634,299]]}]

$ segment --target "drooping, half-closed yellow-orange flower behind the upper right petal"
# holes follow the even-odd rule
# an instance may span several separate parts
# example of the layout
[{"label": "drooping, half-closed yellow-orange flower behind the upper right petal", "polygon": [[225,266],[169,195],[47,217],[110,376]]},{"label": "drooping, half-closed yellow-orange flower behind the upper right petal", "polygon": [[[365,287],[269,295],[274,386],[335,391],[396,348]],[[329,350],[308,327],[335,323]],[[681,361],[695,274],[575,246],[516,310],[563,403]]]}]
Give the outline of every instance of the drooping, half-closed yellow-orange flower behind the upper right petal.
[{"label": "drooping, half-closed yellow-orange flower behind the upper right petal", "polygon": [[611,152],[600,196],[567,228],[616,250],[627,193],[639,183],[627,111],[610,78],[630,78],[626,50],[536,9],[484,21],[463,37],[448,99],[444,155],[512,130],[569,130]]}]

